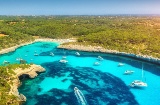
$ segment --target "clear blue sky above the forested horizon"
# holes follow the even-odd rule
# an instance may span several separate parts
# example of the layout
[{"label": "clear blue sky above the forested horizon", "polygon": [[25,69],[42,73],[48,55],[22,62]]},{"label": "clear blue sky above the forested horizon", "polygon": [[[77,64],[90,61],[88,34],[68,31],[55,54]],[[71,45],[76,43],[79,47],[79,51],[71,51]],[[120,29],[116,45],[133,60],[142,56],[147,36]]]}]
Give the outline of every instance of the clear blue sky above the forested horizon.
[{"label": "clear blue sky above the forested horizon", "polygon": [[0,15],[160,14],[160,0],[0,0]]}]

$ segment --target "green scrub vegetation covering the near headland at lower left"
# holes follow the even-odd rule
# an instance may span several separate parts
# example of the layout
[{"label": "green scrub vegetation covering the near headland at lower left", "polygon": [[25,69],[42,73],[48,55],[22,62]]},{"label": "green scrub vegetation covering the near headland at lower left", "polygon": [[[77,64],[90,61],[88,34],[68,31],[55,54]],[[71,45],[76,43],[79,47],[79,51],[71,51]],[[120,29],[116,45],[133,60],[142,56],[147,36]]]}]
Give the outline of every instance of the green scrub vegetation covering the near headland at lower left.
[{"label": "green scrub vegetation covering the near headland at lower left", "polygon": [[14,69],[28,68],[30,65],[26,64],[12,64],[0,66],[0,104],[1,105],[18,105],[18,97],[9,95],[13,80],[16,79]]}]

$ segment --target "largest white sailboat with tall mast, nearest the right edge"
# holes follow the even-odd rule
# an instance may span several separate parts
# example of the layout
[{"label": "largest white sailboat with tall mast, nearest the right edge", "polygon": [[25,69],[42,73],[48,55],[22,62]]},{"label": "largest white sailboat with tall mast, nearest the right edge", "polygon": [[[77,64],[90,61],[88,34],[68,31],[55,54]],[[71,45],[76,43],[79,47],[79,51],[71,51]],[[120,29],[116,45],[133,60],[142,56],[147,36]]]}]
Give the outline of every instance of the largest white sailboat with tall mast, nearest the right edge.
[{"label": "largest white sailboat with tall mast, nearest the right edge", "polygon": [[[142,80],[143,80],[143,64],[142,64]],[[142,80],[134,80],[130,84],[130,87],[137,87],[137,88],[147,87],[147,83],[143,82]]]}]

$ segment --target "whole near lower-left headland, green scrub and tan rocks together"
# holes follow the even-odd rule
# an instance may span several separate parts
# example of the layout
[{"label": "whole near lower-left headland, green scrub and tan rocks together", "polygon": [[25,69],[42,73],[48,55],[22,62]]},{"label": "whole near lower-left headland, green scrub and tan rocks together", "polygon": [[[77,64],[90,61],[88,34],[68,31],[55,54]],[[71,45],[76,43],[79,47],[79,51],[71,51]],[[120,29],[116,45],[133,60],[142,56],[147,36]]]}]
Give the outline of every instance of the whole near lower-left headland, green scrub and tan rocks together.
[{"label": "whole near lower-left headland, green scrub and tan rocks together", "polygon": [[1,82],[1,90],[3,91],[0,92],[1,104],[19,105],[19,103],[26,101],[26,97],[18,92],[18,87],[21,85],[19,76],[28,75],[30,78],[35,78],[38,72],[44,72],[45,69],[35,64],[13,64],[1,67],[0,71],[2,73],[1,75],[3,75],[0,76],[1,80],[3,80]]}]

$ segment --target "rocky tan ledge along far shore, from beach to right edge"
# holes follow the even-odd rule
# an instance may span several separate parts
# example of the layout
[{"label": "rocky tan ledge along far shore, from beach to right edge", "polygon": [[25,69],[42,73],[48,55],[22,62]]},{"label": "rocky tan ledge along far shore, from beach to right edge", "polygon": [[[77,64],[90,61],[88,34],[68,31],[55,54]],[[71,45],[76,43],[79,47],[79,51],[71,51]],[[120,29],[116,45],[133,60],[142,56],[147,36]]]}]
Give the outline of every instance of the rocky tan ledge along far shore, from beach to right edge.
[{"label": "rocky tan ledge along far shore, from beach to right edge", "polygon": [[133,54],[133,53],[126,53],[126,52],[119,52],[116,50],[108,50],[100,46],[84,46],[84,45],[73,45],[73,44],[67,44],[67,45],[60,45],[58,48],[63,48],[63,49],[69,49],[69,50],[79,50],[79,51],[89,51],[89,52],[102,52],[102,53],[108,53],[108,54],[116,54],[116,55],[122,55],[122,56],[127,56],[127,57],[132,57],[136,59],[141,59],[145,60],[148,62],[160,64],[160,58],[155,58],[152,56],[148,55],[140,55],[140,54]]}]

